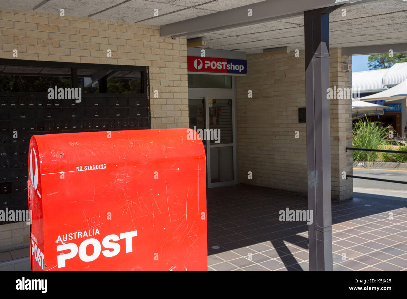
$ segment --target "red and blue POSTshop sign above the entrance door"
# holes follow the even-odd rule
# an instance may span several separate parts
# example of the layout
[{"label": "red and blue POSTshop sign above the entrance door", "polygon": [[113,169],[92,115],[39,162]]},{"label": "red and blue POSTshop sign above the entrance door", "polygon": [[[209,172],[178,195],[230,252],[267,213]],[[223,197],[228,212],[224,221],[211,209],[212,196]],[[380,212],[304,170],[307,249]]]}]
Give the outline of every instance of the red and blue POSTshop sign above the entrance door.
[{"label": "red and blue POSTshop sign above the entrance door", "polygon": [[247,61],[212,57],[188,56],[189,72],[246,74]]}]

